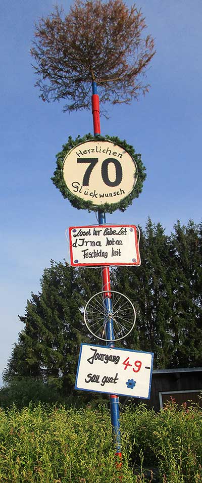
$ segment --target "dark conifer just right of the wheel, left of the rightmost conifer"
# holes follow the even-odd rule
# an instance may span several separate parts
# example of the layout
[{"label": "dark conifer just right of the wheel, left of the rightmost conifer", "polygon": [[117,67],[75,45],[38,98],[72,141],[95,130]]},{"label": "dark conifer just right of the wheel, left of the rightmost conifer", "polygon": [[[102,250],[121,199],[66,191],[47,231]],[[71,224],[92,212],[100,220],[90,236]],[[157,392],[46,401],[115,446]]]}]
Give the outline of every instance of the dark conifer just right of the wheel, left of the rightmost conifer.
[{"label": "dark conifer just right of the wheel, left of the rightmost conifer", "polygon": [[155,366],[168,367],[169,238],[162,225],[153,224],[150,218],[140,232],[141,265],[117,270],[118,286],[128,294],[137,315],[135,329],[126,344],[132,349],[154,352]]}]

